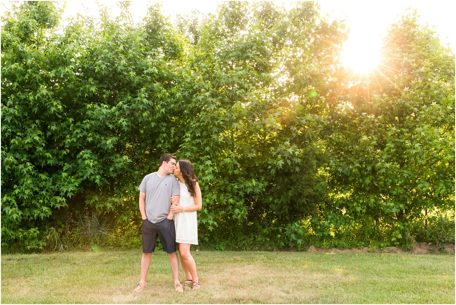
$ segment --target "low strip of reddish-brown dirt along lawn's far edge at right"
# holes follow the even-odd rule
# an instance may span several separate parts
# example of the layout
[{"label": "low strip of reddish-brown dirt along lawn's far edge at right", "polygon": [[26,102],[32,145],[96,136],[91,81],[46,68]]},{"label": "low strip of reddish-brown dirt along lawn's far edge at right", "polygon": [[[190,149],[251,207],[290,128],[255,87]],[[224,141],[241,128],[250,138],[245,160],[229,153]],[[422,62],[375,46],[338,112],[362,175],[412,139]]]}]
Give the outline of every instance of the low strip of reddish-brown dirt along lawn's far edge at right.
[{"label": "low strip of reddish-brown dirt along lawn's far edge at right", "polygon": [[[447,244],[445,245],[446,253],[455,254],[455,245]],[[340,250],[337,248],[325,249],[325,248],[317,248],[315,246],[310,246],[307,249],[307,252],[328,252],[328,253],[415,253],[415,254],[427,254],[427,253],[442,253],[437,247],[437,245],[430,243],[430,242],[415,242],[413,245],[413,249],[409,252],[404,252],[399,247],[386,247],[383,250],[379,250],[378,248],[368,249],[364,247],[363,249],[352,248],[352,249],[344,249]]]}]

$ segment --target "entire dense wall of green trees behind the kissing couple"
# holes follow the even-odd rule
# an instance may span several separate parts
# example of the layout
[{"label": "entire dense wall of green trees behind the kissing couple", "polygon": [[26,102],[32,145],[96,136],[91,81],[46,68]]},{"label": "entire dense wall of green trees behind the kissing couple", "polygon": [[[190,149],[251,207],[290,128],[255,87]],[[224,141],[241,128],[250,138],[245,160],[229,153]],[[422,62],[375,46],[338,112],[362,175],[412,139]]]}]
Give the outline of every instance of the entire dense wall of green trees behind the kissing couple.
[{"label": "entire dense wall of green trees behind the kissing couple", "polygon": [[442,221],[416,229],[455,200],[454,54],[416,14],[358,78],[315,2],[227,1],[177,25],[118,5],[65,27],[48,1],[2,16],[2,247],[138,247],[137,185],[165,152],[192,161],[218,250],[454,241]]}]

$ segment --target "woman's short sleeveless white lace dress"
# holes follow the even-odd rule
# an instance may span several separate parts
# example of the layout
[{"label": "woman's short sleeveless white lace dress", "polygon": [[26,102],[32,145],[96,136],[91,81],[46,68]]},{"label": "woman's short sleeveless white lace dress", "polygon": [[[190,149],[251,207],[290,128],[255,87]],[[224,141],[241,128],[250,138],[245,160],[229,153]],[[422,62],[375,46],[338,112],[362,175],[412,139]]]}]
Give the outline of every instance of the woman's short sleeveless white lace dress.
[{"label": "woman's short sleeveless white lace dress", "polygon": [[[179,198],[180,205],[191,206],[195,205],[195,200],[188,192],[187,185],[179,182],[181,195]],[[198,224],[197,212],[179,212],[174,214],[174,226],[176,227],[176,242],[189,243],[192,245],[198,244]]]}]

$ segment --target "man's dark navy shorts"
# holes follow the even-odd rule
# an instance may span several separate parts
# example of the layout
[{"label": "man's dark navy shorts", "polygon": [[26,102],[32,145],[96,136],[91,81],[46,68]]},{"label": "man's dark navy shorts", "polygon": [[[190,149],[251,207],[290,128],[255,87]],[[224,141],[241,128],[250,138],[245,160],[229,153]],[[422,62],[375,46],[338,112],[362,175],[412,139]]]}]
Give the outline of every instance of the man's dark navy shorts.
[{"label": "man's dark navy shorts", "polygon": [[166,253],[176,252],[176,228],[174,220],[165,218],[158,223],[152,223],[147,219],[142,224],[143,253],[155,251],[157,237],[160,237],[163,251]]}]

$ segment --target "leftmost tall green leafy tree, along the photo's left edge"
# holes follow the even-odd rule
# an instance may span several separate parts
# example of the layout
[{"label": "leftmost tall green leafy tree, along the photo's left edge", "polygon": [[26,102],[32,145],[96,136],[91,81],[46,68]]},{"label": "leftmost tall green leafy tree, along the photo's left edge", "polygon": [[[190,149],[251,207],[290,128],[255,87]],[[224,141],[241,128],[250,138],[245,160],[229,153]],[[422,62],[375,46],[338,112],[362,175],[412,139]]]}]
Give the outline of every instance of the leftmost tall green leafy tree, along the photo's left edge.
[{"label": "leftmost tall green leafy tree, along the photo's left edge", "polygon": [[74,77],[71,52],[53,34],[60,13],[52,2],[24,2],[2,20],[2,245],[40,248],[36,223],[65,206],[81,182],[53,147],[65,114],[60,95]]}]

